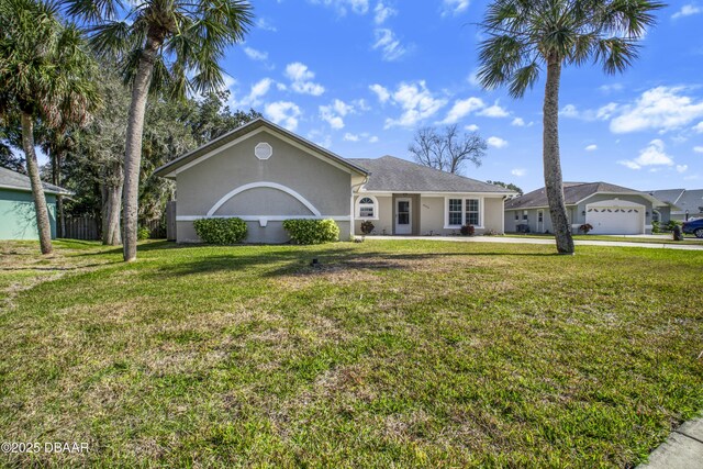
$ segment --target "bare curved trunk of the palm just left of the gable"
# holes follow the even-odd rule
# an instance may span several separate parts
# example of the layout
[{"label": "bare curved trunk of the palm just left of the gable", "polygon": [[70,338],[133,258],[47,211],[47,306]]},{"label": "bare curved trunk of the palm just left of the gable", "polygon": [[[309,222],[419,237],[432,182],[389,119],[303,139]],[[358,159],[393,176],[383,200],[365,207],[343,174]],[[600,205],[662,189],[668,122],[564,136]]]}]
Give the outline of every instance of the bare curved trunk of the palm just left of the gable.
[{"label": "bare curved trunk of the palm just left of the gable", "polygon": [[123,257],[131,263],[136,260],[136,232],[140,196],[140,169],[142,167],[142,134],[144,132],[144,114],[146,101],[152,83],[154,60],[159,44],[147,38],[146,47],[142,52],[140,65],[132,88],[132,102],[127,115],[126,145],[124,152],[124,190],[123,205]]}]

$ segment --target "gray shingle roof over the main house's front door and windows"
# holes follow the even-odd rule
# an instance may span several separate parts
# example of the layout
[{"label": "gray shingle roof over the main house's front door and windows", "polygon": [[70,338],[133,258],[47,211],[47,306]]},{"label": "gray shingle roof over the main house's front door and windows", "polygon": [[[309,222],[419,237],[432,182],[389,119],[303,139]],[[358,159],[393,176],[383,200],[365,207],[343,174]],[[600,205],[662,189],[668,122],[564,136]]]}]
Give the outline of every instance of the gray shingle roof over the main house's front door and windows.
[{"label": "gray shingle roof over the main house's front door and windows", "polygon": [[427,168],[393,156],[353,158],[371,174],[364,186],[367,192],[491,192],[514,193],[510,189]]}]

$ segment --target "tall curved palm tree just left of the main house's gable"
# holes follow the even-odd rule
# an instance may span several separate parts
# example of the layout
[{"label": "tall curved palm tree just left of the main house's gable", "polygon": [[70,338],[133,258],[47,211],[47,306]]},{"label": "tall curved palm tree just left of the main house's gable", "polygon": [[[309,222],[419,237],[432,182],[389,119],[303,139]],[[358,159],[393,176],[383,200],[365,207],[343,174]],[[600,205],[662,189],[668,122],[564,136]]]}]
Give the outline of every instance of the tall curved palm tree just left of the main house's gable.
[{"label": "tall curved palm tree just left of the main house's gable", "polygon": [[132,86],[124,154],[123,255],[136,259],[140,167],[149,91],[183,97],[223,86],[219,60],[252,25],[245,0],[64,0],[88,24],[96,52],[121,64]]}]

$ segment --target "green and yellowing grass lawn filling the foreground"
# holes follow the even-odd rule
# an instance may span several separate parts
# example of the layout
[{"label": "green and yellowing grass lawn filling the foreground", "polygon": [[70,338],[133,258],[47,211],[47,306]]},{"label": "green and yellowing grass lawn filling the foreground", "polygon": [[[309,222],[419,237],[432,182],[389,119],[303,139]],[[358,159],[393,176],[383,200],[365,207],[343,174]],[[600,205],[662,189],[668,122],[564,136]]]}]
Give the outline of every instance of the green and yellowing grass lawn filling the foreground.
[{"label": "green and yellowing grass lawn filling the foreground", "polygon": [[703,253],[56,245],[0,243],[0,440],[90,449],[8,466],[632,467],[703,410]]}]

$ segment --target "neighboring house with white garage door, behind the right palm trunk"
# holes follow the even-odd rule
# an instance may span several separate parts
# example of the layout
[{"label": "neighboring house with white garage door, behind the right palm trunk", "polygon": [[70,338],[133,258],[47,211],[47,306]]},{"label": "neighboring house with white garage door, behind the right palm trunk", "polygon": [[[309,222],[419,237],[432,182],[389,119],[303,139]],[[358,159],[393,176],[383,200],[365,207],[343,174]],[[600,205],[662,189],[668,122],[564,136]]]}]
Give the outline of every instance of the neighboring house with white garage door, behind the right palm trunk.
[{"label": "neighboring house with white garage door, behind the right palm trunk", "polygon": [[[593,234],[651,233],[654,210],[666,204],[652,196],[607,182],[565,182],[567,216],[574,233],[590,224]],[[505,202],[505,230],[526,225],[532,233],[553,233],[545,189]]]}]

